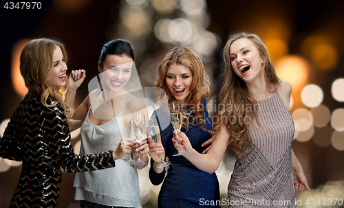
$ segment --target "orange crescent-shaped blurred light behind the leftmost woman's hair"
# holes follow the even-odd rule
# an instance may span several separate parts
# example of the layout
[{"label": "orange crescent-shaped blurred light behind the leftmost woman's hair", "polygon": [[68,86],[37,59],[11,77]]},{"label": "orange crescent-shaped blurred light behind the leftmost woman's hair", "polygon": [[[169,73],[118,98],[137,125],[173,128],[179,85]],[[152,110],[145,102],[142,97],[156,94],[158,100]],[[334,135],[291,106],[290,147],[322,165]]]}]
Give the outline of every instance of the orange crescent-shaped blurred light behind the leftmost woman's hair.
[{"label": "orange crescent-shaped blurred light behind the leftmost woman's hair", "polygon": [[23,50],[23,47],[26,43],[31,41],[31,39],[21,39],[14,43],[12,47],[12,84],[14,87],[14,90],[21,96],[24,96],[26,93],[28,93],[28,89],[25,86],[24,79],[21,76],[19,64],[20,64],[20,56],[21,51]]}]

